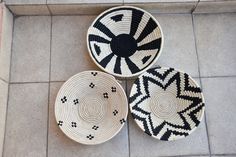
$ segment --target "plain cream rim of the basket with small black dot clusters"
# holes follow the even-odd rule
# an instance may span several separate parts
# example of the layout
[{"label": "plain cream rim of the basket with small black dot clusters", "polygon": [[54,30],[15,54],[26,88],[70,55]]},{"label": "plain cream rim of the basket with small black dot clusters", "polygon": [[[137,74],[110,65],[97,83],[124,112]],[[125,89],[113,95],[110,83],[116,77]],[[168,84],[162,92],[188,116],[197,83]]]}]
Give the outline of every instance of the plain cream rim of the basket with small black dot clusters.
[{"label": "plain cream rim of the basket with small black dot clusters", "polygon": [[[125,108],[123,108],[123,109],[125,109],[125,112],[124,112],[124,115],[125,115],[125,116],[124,116],[124,119],[127,121],[128,112],[129,112],[129,109],[128,109],[128,100],[127,100],[127,96],[126,96],[125,90],[123,89],[122,85],[115,79],[114,76],[112,76],[112,75],[110,75],[110,74],[107,74],[107,73],[105,73],[105,72],[101,72],[101,71],[98,71],[98,70],[86,70],[86,71],[79,72],[79,73],[77,73],[77,74],[71,76],[67,81],[65,81],[65,82],[61,85],[60,89],[58,90],[57,96],[56,96],[55,102],[54,102],[54,116],[55,116],[55,121],[56,121],[56,123],[57,123],[58,120],[59,120],[58,117],[57,117],[57,115],[56,115],[56,110],[55,110],[55,108],[56,108],[56,103],[57,103],[57,100],[58,100],[58,98],[59,98],[59,93],[61,93],[61,91],[62,91],[64,85],[65,85],[67,82],[71,81],[74,77],[76,77],[76,76],[78,76],[78,75],[81,75],[81,74],[84,74],[84,73],[91,73],[91,72],[102,73],[102,75],[106,76],[107,78],[113,79],[113,80],[114,80],[114,83],[116,83],[117,86],[119,86],[119,88],[121,89],[121,93],[120,93],[120,94],[122,94],[122,96],[124,97],[125,103],[126,103],[126,105],[127,105]],[[103,140],[103,141],[100,141],[100,142],[92,142],[92,143],[84,143],[84,142],[81,142],[81,141],[79,141],[79,140],[77,140],[77,139],[74,139],[74,138],[70,137],[68,134],[66,134],[66,133],[63,131],[63,129],[62,129],[61,127],[59,127],[59,128],[60,128],[60,130],[63,132],[64,135],[66,135],[69,139],[71,139],[71,140],[73,140],[73,141],[75,141],[75,142],[78,142],[78,143],[83,144],[83,145],[97,145],[97,144],[105,143],[105,142],[109,141],[110,139],[112,139],[113,137],[115,137],[115,136],[121,131],[121,129],[124,127],[124,125],[125,125],[125,123],[121,124],[120,127],[119,127],[119,129],[117,129],[117,131],[114,132],[114,134],[113,134],[112,136],[110,136],[109,138],[107,138],[106,140]]]}]

